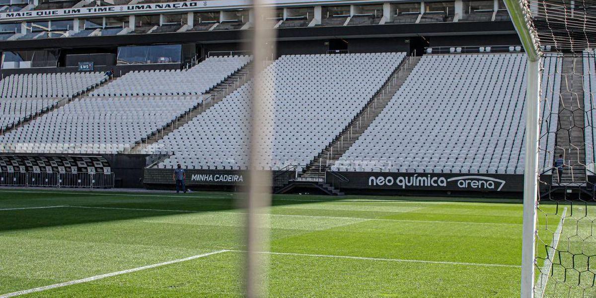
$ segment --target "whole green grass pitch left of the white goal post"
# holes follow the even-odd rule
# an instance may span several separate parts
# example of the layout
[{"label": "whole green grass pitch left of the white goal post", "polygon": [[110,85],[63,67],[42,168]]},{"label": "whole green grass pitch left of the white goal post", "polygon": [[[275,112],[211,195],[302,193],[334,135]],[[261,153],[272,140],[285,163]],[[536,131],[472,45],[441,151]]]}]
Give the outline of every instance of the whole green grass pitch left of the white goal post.
[{"label": "whole green grass pitch left of the white goal post", "polygon": [[[238,197],[0,190],[0,296],[219,250],[29,296],[241,296]],[[61,207],[24,209],[44,206]],[[266,212],[272,297],[519,296],[520,200],[275,195]]]}]

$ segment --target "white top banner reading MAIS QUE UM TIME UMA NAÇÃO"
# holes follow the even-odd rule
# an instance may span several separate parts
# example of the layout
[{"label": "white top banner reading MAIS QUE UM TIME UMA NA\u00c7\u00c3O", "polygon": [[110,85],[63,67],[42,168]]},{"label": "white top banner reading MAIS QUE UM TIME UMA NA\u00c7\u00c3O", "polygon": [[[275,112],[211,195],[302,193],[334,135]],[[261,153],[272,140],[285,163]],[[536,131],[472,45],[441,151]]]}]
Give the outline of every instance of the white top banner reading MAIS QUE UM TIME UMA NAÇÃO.
[{"label": "white top banner reading MAIS QUE UM TIME UMA NA\u00c7\u00c3O", "polygon": [[[269,0],[271,5],[305,5],[324,4],[326,2],[337,3],[330,0]],[[344,0],[340,2],[355,2]],[[55,10],[30,10],[30,11],[11,11],[0,13],[0,21],[18,21],[37,18],[64,18],[79,17],[83,15],[125,15],[125,14],[143,14],[143,13],[172,13],[176,11],[188,13],[189,11],[216,10],[216,9],[238,9],[249,8],[252,6],[250,0],[209,0],[209,1],[182,1],[182,2],[164,2],[164,3],[139,3],[127,5],[110,5],[100,7],[79,7],[79,8],[60,8]]]}]

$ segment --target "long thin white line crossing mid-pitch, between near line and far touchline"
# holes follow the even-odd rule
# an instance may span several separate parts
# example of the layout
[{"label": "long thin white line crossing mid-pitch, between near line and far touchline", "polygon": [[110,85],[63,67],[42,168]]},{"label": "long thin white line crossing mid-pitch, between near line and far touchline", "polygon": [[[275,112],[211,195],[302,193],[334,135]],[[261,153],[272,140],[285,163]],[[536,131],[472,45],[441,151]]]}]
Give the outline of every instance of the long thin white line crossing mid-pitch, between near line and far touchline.
[{"label": "long thin white line crossing mid-pitch, between near line and far touchline", "polygon": [[[157,212],[182,212],[182,213],[224,213],[224,214],[237,214],[246,215],[246,212],[225,212],[225,211],[200,211],[200,210],[167,210],[167,209],[141,209],[141,208],[120,208],[120,207],[92,207],[92,206],[64,206],[70,208],[83,208],[83,209],[113,209],[113,210],[137,210],[137,211],[157,211]],[[350,218],[343,216],[324,216],[324,215],[294,215],[294,214],[269,214],[259,213],[257,215],[268,215],[268,216],[287,216],[287,217],[298,217],[298,218],[329,218],[329,219],[362,219],[364,221],[386,221],[386,222],[430,222],[440,224],[470,224],[470,225],[515,225],[521,224],[508,224],[505,222],[456,222],[456,221],[417,221],[415,219],[386,219],[386,218]]]}]

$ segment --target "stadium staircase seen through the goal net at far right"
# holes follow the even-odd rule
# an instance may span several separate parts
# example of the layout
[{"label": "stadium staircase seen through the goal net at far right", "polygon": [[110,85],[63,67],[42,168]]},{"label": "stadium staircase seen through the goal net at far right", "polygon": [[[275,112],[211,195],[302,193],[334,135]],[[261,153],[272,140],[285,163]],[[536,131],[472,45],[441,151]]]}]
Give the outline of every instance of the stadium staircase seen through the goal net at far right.
[{"label": "stadium staircase seen through the goal net at far right", "polygon": [[567,166],[561,181],[557,181],[557,175],[553,173],[552,182],[554,185],[582,187],[586,183],[582,57],[564,57],[562,72],[554,159],[563,154]]}]

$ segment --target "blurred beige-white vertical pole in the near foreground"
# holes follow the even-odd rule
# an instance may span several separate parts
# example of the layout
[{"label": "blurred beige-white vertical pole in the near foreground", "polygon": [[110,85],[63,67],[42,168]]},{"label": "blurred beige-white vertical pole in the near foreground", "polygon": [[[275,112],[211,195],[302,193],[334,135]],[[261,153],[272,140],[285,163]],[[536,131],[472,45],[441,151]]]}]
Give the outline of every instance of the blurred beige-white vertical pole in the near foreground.
[{"label": "blurred beige-white vertical pole in the near foreground", "polygon": [[[272,14],[266,1],[253,0],[254,36],[252,52],[254,55],[254,85],[250,114],[250,157],[249,157],[249,185],[246,223],[246,268],[245,294],[246,297],[267,296],[268,256],[258,252],[269,250],[269,222],[268,217],[258,215],[266,213],[259,211],[271,205],[271,172],[258,170],[260,166],[269,164],[271,144],[268,136],[272,132],[272,92],[267,90],[266,82],[271,80],[263,70],[266,61],[275,52],[275,30],[268,28],[266,20]],[[265,160],[263,160],[265,159]]]}]

